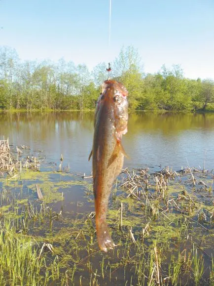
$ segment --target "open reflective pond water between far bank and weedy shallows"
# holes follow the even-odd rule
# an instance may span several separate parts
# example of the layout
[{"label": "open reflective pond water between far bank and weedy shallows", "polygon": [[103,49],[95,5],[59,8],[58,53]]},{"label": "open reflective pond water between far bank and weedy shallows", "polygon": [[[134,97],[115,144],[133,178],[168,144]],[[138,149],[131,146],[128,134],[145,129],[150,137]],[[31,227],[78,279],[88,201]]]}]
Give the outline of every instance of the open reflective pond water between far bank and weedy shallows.
[{"label": "open reflective pond water between far bank and weedy shallows", "polygon": [[[43,151],[48,163],[60,163],[76,173],[91,172],[94,112],[0,113],[0,137],[13,145]],[[214,114],[129,115],[123,146],[129,159],[124,167],[185,166],[214,168]]]}]

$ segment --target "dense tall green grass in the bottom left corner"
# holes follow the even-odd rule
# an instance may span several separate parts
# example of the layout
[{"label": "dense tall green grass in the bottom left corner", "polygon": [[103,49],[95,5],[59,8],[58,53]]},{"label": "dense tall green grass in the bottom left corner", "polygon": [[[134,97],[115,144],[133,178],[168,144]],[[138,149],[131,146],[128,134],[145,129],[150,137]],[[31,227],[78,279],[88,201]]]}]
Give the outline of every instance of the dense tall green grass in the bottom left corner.
[{"label": "dense tall green grass in the bottom left corner", "polygon": [[0,285],[48,285],[59,280],[58,258],[38,256],[38,243],[33,237],[17,234],[14,220],[0,225]]}]

